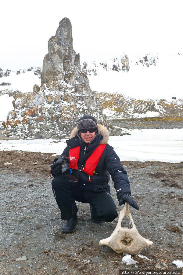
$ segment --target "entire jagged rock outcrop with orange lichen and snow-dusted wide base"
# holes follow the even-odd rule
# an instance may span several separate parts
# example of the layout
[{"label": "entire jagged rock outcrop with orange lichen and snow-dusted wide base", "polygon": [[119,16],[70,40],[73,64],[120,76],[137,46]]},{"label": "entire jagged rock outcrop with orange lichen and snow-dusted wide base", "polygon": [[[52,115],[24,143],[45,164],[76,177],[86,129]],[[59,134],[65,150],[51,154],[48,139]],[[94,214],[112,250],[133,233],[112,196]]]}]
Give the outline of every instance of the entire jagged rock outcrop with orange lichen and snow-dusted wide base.
[{"label": "entire jagged rock outcrop with orange lichen and snow-dusted wide base", "polygon": [[[72,45],[72,27],[68,18],[59,22],[56,35],[48,41],[48,54],[43,61],[41,86],[17,97],[13,93],[14,110],[3,122],[3,133],[18,137],[61,138],[68,136],[79,117],[93,115],[106,123],[100,101],[81,72],[79,54]],[[19,73],[17,71],[16,73]]]}]

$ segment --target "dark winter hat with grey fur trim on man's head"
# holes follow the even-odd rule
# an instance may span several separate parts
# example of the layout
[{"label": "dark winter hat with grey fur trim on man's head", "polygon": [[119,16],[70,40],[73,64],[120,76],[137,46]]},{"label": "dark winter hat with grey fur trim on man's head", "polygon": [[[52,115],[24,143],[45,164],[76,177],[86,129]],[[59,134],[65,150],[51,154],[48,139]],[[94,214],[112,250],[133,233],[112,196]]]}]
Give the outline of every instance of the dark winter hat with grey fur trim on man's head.
[{"label": "dark winter hat with grey fur trim on man's head", "polygon": [[99,128],[97,126],[97,122],[93,116],[82,116],[77,123],[77,136],[81,139],[80,131],[85,128],[95,128],[96,135],[99,135]]}]

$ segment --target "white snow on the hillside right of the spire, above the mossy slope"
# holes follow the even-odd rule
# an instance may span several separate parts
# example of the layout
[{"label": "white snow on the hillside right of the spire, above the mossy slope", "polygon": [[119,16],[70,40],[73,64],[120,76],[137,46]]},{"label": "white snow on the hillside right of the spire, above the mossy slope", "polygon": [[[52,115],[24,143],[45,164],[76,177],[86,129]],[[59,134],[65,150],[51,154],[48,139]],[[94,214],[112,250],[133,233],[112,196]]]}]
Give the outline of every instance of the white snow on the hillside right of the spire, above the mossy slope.
[{"label": "white snow on the hillside right of the spire, above the mossy slope", "polygon": [[[129,71],[120,70],[120,58],[87,65],[90,87],[93,91],[124,94],[135,99],[166,99],[183,97],[183,56],[150,54],[128,57]],[[119,71],[113,70],[117,63]],[[148,61],[147,61],[148,60]],[[86,62],[87,63],[87,62]],[[106,68],[104,65],[106,64]],[[83,65],[83,71],[84,64]],[[86,66],[86,65],[85,65]]]}]

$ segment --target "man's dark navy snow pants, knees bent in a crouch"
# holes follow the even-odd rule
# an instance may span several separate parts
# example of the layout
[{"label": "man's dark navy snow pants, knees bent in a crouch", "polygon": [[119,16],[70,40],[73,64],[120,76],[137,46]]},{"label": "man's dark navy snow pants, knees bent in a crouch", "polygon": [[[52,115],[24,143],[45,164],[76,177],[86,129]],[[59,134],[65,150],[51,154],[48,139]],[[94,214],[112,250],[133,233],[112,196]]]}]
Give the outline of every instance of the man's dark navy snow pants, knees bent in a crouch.
[{"label": "man's dark navy snow pants, knees bent in a crouch", "polygon": [[67,220],[77,213],[76,201],[92,206],[91,218],[96,221],[112,222],[117,217],[116,205],[109,191],[94,192],[70,174],[61,174],[52,180],[52,190],[61,218]]}]

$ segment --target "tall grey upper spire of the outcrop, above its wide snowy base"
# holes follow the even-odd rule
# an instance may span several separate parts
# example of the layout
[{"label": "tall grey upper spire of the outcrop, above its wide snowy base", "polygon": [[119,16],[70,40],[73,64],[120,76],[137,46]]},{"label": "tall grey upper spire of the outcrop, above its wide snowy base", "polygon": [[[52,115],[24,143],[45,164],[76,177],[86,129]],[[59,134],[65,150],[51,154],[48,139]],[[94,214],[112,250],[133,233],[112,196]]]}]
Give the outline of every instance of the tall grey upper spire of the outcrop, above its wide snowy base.
[{"label": "tall grey upper spire of the outcrop, above its wide snowy base", "polygon": [[73,50],[72,26],[68,18],[63,18],[48,41],[48,54],[43,61],[41,84],[65,80],[73,83],[76,70],[81,71],[79,54]]}]

